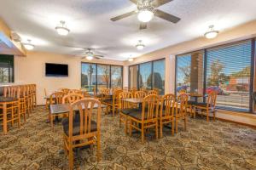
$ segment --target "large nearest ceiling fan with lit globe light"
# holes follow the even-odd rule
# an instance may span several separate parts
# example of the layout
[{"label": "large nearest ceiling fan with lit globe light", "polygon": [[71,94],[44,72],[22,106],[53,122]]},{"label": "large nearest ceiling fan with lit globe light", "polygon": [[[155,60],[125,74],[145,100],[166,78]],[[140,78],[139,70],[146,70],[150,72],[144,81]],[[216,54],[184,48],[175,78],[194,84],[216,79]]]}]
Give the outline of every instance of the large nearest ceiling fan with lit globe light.
[{"label": "large nearest ceiling fan with lit globe light", "polygon": [[161,5],[166,3],[170,3],[172,0],[130,0],[131,3],[137,4],[137,9],[125,13],[120,14],[119,16],[113,17],[110,20],[117,21],[129,17],[133,14],[137,14],[137,19],[140,23],[140,30],[147,28],[147,22],[154,18],[154,15],[160,17],[163,20],[170,21],[172,23],[177,23],[180,18],[174,16],[172,14],[168,14],[160,9],[157,9]]}]

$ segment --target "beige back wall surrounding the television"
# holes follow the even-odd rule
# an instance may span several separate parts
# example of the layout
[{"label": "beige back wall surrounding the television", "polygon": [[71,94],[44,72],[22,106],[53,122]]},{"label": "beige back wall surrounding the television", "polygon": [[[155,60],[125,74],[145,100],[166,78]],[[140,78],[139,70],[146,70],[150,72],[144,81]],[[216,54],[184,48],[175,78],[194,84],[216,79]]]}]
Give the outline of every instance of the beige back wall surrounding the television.
[{"label": "beige back wall surrounding the television", "polygon": [[[86,62],[86,60],[83,60]],[[112,65],[123,65],[114,60],[95,60],[92,62]],[[45,63],[67,64],[68,77],[45,77]],[[42,52],[29,52],[26,57],[15,56],[15,82],[36,83],[38,87],[38,105],[44,104],[44,88],[54,92],[59,88],[81,88],[81,59]]]}]

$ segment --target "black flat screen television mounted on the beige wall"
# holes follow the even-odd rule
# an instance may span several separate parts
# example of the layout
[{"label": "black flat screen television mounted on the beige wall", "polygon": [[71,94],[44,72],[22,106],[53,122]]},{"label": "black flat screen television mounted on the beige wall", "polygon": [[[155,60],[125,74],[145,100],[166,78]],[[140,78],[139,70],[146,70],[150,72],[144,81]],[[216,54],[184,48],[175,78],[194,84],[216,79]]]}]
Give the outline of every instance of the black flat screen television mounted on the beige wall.
[{"label": "black flat screen television mounted on the beige wall", "polygon": [[68,65],[45,63],[46,77],[68,77]]}]

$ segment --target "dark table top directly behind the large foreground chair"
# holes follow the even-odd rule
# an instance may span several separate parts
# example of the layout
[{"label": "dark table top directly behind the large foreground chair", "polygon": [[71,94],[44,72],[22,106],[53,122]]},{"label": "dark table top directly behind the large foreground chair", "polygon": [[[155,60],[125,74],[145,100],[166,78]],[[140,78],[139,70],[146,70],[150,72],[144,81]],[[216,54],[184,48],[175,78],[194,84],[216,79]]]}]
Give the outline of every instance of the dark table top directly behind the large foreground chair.
[{"label": "dark table top directly behind the large foreground chair", "polygon": [[[61,114],[69,112],[70,104],[55,104],[49,105],[49,110],[51,114]],[[102,108],[106,107],[106,105],[101,105]],[[94,105],[94,109],[97,109],[98,105]],[[74,108],[74,111],[79,111],[79,108]]]}]

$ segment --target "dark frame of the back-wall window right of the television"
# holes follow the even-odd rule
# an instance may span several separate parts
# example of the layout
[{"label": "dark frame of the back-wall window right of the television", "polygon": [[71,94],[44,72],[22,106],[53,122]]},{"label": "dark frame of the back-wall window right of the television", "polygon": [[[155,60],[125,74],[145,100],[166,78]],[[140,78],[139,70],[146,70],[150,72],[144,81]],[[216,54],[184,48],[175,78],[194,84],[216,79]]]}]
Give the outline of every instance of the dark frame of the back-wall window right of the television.
[{"label": "dark frame of the back-wall window right of the television", "polygon": [[[93,62],[81,62],[81,88],[82,88],[82,66],[83,64],[89,64],[89,65],[96,65],[96,93],[98,92],[98,65],[108,65],[108,64],[102,64],[102,63],[93,63]],[[123,65],[108,65],[109,66],[109,88],[111,87],[111,70],[112,66],[119,66],[121,67],[121,76],[122,76],[122,83],[121,83],[121,88],[123,88],[124,85],[124,66]]]}]

